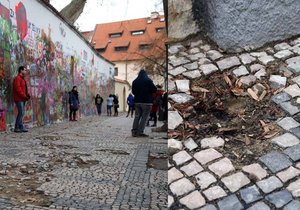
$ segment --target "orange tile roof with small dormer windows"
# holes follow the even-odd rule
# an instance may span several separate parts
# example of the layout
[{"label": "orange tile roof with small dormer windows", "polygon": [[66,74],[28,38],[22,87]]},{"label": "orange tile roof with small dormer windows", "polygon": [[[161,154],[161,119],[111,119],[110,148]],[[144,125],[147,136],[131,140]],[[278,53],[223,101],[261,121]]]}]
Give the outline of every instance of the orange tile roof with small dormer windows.
[{"label": "orange tile roof with small dormer windows", "polygon": [[[140,60],[145,57],[158,57],[165,53],[167,35],[157,32],[157,28],[166,27],[164,16],[159,15],[155,19],[139,18],[133,20],[97,24],[91,43],[96,50],[106,48],[101,55],[110,61]],[[147,23],[151,20],[151,23]],[[144,34],[131,35],[133,31],[145,30]],[[110,37],[110,34],[121,33],[120,37]],[[140,49],[139,45],[150,44],[149,49]],[[115,47],[128,46],[127,51],[115,51]]]}]

